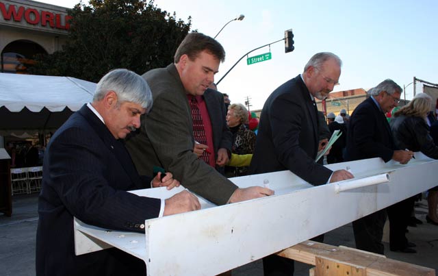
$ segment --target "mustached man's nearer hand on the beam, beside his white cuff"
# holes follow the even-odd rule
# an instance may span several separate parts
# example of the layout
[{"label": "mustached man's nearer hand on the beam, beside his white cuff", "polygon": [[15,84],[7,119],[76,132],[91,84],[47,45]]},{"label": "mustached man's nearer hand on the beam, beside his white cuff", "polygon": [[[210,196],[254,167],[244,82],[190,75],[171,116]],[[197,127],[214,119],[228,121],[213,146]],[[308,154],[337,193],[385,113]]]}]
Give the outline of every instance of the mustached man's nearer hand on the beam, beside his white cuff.
[{"label": "mustached man's nearer hand on the beam, beside his white cuff", "polygon": [[198,198],[188,190],[183,190],[173,197],[166,199],[163,216],[179,214],[201,209]]}]

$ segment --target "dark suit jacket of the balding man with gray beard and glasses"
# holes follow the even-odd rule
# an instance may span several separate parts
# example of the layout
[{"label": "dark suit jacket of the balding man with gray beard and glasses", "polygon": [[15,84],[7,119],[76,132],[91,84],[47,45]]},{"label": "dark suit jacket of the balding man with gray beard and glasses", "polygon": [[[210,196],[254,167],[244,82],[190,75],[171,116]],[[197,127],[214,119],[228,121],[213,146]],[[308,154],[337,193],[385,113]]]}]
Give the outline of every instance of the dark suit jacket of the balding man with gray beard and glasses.
[{"label": "dark suit jacket of the balding man with gray beard and glasses", "polygon": [[259,123],[250,173],[289,170],[313,185],[326,184],[332,171],[315,163],[318,118],[300,75],[268,97]]}]

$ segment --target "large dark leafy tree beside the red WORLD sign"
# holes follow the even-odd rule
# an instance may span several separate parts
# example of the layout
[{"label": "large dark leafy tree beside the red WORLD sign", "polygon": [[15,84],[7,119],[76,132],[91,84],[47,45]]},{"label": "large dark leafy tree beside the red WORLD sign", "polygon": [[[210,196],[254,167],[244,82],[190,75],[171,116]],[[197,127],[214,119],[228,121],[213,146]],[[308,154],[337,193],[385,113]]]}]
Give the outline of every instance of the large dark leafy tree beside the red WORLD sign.
[{"label": "large dark leafy tree beside the red WORLD sign", "polygon": [[31,73],[94,82],[114,68],[142,74],[170,64],[192,24],[153,0],[91,0],[68,13],[73,17],[68,42],[62,51],[38,57]]}]

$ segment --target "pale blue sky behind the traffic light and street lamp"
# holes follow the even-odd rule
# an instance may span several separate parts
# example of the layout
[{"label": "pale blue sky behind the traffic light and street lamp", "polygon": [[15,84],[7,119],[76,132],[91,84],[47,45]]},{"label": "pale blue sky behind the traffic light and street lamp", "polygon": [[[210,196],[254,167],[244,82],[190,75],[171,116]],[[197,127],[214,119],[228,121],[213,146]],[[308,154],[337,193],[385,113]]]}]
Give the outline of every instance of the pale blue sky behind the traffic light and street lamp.
[{"label": "pale blue sky behind the traffic light and street lamp", "polygon": [[[79,0],[40,2],[72,8]],[[248,57],[271,52],[272,60],[247,65],[245,56],[218,84],[232,103],[249,97],[251,110],[261,109],[275,88],[302,73],[321,51],[331,51],[343,62],[340,85],[333,91],[368,90],[390,78],[407,86],[406,99],[411,99],[413,77],[438,83],[436,0],[155,0],[155,5],[186,22],[192,16],[192,29],[212,37],[244,14],[243,21],[232,21],[216,38],[227,52],[216,82],[245,53],[293,30],[294,51],[285,53],[283,41],[253,51]],[[422,92],[422,86],[416,90]]]}]

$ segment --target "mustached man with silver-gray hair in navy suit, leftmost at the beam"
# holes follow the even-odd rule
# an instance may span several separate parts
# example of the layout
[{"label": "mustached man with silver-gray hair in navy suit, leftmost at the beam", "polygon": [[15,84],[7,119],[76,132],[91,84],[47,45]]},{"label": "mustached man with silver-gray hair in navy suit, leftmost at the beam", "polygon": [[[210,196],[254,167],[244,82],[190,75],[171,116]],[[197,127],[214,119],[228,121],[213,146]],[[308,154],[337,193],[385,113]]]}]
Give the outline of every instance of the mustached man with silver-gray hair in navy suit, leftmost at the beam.
[{"label": "mustached man with silver-gray hair in navy suit, leftmost at the beam", "polygon": [[142,260],[115,248],[75,255],[73,216],[99,227],[144,233],[145,219],[201,208],[187,191],[166,200],[127,192],[179,185],[171,173],[162,181],[160,173],[152,181],[140,177],[119,140],[140,127],[140,115],[151,105],[146,81],[117,69],[99,81],[93,102],[55,132],[44,154],[36,275],[146,275]]}]

